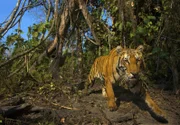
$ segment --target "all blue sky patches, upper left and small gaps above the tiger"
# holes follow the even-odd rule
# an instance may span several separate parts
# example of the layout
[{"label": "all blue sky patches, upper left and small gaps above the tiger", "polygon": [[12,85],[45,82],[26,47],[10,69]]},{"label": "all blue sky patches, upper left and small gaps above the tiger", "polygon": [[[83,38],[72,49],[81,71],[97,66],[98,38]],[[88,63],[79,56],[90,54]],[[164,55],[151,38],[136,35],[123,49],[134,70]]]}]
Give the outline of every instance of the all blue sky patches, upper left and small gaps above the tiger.
[{"label": "all blue sky patches, upper left and small gaps above the tiger", "polygon": [[[5,21],[5,19],[10,15],[14,7],[16,6],[18,0],[1,0],[0,2],[0,24]],[[43,21],[43,17],[39,9],[31,9],[30,11],[25,12],[22,21],[21,21],[21,30],[24,32],[21,36],[27,39],[28,27],[32,26],[34,23],[38,23]],[[104,11],[103,20],[108,17],[108,13]],[[112,20],[108,18],[107,23],[109,26],[112,25]],[[13,33],[17,29],[17,26],[13,27],[9,30],[9,32],[5,35],[5,38]]]}]

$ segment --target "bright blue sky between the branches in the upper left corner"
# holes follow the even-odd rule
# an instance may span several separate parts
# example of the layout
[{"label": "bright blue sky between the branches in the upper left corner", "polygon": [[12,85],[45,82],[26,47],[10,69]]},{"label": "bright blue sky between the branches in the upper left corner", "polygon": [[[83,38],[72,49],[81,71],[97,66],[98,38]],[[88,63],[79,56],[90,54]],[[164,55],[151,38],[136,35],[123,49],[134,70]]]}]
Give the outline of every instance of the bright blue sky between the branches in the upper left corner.
[{"label": "bright blue sky between the branches in the upper left corner", "polygon": [[[10,15],[12,10],[16,6],[16,3],[17,3],[17,0],[1,0],[1,3],[0,3],[0,24],[2,22],[4,22],[4,20]],[[25,38],[25,39],[27,38],[26,34],[28,31],[28,26],[33,25],[34,23],[37,23],[38,21],[39,21],[39,19],[37,19],[37,17],[35,16],[35,11],[33,11],[33,12],[27,11],[25,13],[25,15],[22,18],[22,22],[21,22],[21,29],[22,29],[22,31],[24,31],[24,33],[22,34],[23,38]],[[15,29],[17,29],[17,26],[15,26],[11,30],[9,30],[9,32],[5,35],[5,37],[8,34],[11,34],[12,32],[14,32]]]}]

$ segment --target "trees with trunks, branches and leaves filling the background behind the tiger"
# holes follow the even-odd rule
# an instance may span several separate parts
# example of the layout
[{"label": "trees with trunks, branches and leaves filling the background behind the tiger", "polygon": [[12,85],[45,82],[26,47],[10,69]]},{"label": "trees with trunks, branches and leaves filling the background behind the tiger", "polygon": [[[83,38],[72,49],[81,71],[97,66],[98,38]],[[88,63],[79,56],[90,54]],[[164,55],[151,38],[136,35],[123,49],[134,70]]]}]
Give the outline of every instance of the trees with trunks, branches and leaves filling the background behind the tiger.
[{"label": "trees with trunks, branches and leaves filling the background behind the tiger", "polygon": [[[29,71],[46,65],[45,69],[50,67],[52,77],[59,79],[62,67],[69,64],[66,64],[66,61],[71,58],[68,54],[71,53],[75,57],[74,62],[78,62],[73,64],[74,67],[77,65],[80,67],[79,77],[81,77],[84,71],[87,71],[85,67],[89,68],[91,65],[90,62],[86,62],[87,60],[93,62],[97,55],[107,54],[117,45],[135,47],[143,44],[147,48],[145,54],[146,70],[149,72],[147,75],[157,81],[167,77],[173,81],[173,88],[177,92],[179,49],[176,41],[179,39],[179,30],[176,27],[179,27],[177,17],[180,14],[176,11],[178,2],[177,0],[18,0],[10,18],[2,23],[0,29],[2,37],[17,23],[20,25],[23,14],[31,8],[43,6],[46,21],[29,27],[28,40],[21,37],[21,29],[17,29],[16,33],[8,37],[6,43],[9,45],[13,43],[15,47],[10,59],[4,59],[0,68],[11,64],[11,68],[14,65],[17,69],[22,69],[20,63],[28,57]],[[172,16],[174,14],[177,16]],[[175,42],[172,42],[172,39]],[[8,44],[5,47],[8,47]],[[54,57],[53,61],[51,57]],[[43,62],[44,60],[46,61]],[[168,76],[169,69],[173,79]],[[41,71],[45,72],[44,69]]]}]

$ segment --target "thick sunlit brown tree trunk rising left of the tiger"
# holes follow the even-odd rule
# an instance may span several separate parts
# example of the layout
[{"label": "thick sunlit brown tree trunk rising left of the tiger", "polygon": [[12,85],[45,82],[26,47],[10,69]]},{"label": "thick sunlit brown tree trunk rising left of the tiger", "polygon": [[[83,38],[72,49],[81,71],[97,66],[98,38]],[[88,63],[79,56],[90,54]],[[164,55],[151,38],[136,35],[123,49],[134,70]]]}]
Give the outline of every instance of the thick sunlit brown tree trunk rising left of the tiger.
[{"label": "thick sunlit brown tree trunk rising left of the tiger", "polygon": [[[56,4],[58,4],[58,0],[56,0]],[[54,58],[50,66],[52,77],[56,80],[59,79],[59,67],[62,66],[65,61],[65,58],[62,57],[62,49],[64,45],[64,38],[67,29],[69,28],[70,15],[72,15],[72,12],[74,12],[74,8],[75,8],[74,0],[65,1],[62,9],[63,11],[60,15],[60,18],[58,18],[59,13],[57,12],[58,9],[56,5],[55,15],[54,15],[56,22],[55,26],[57,26],[56,37],[47,50],[47,53],[52,53],[54,48],[56,48],[56,57]]]}]

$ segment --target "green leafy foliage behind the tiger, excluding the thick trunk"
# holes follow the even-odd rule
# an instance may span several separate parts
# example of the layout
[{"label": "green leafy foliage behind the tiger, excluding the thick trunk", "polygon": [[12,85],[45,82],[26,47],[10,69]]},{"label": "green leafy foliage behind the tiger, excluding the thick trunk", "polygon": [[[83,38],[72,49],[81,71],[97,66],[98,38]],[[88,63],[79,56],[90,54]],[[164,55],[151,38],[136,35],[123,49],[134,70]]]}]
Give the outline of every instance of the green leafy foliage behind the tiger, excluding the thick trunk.
[{"label": "green leafy foliage behind the tiger, excluding the thick trunk", "polygon": [[[36,2],[34,1],[34,3]],[[17,91],[19,86],[21,87],[19,91],[22,89],[30,90],[34,86],[39,87],[37,90],[42,90],[45,88],[51,89],[48,86],[52,83],[57,86],[64,83],[78,83],[80,78],[78,59],[80,56],[78,55],[78,40],[76,39],[77,28],[80,29],[82,37],[80,38],[83,50],[81,56],[83,60],[83,66],[81,67],[83,71],[82,81],[86,80],[91,64],[99,55],[99,51],[101,51],[101,55],[108,54],[111,48],[119,44],[123,45],[124,41],[126,46],[132,48],[139,44],[145,46],[146,74],[150,80],[172,82],[173,62],[175,62],[178,70],[180,68],[177,65],[180,60],[180,11],[176,10],[180,8],[178,3],[178,0],[175,0],[174,3],[169,0],[88,1],[87,9],[92,17],[95,33],[101,43],[95,45],[86,38],[94,40],[85,18],[78,10],[78,14],[75,16],[70,15],[69,27],[64,36],[66,43],[63,48],[63,56],[66,57],[66,60],[65,64],[59,67],[60,80],[58,82],[52,82],[52,76],[49,72],[52,59],[45,57],[40,63],[37,61],[49,45],[49,43],[44,42],[35,51],[3,67],[0,74],[0,79],[2,79],[0,85],[3,86],[2,88],[8,88],[8,92],[13,92]],[[61,7],[63,6],[59,6],[59,8]],[[27,40],[21,36],[23,31],[16,29],[11,35],[7,36],[5,43],[0,44],[0,61],[4,62],[22,51],[37,46],[40,36],[43,33],[47,34],[50,26],[53,25],[53,20],[54,18],[51,17],[49,22],[40,22],[30,26]],[[55,29],[50,39],[54,39]],[[12,53],[10,53],[10,50]],[[7,57],[7,52],[9,57]],[[19,71],[11,76],[18,69]],[[10,77],[8,77],[9,75]],[[6,84],[3,84],[3,82]],[[43,84],[45,85],[43,86]],[[5,90],[2,89],[2,91]]]}]

